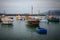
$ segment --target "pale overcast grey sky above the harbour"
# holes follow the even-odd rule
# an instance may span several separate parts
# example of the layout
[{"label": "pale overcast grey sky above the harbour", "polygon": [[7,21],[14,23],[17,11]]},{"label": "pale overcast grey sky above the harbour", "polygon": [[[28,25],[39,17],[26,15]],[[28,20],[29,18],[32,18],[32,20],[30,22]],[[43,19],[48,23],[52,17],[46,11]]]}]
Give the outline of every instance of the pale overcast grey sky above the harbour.
[{"label": "pale overcast grey sky above the harbour", "polygon": [[38,11],[60,10],[60,0],[0,0],[0,12],[6,13],[33,13]]}]

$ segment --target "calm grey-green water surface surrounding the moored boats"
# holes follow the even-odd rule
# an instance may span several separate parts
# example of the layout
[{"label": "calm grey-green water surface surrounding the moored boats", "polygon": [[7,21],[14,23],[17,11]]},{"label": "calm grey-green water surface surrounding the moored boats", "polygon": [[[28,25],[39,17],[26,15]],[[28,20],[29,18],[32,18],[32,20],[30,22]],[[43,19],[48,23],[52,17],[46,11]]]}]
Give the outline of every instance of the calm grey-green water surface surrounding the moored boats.
[{"label": "calm grey-green water surface surrounding the moored boats", "polygon": [[47,34],[38,34],[35,28],[26,26],[26,21],[14,17],[13,25],[0,23],[0,40],[60,40],[60,23],[41,22],[40,27],[47,29]]}]

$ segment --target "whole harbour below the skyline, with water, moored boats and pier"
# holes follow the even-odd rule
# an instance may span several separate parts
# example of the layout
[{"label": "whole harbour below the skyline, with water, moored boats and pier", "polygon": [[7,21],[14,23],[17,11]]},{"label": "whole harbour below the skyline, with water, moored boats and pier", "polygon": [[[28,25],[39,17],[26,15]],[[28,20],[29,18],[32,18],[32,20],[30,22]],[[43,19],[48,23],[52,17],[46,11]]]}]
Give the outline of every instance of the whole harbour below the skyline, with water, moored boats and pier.
[{"label": "whole harbour below the skyline, with water, moored boats and pier", "polygon": [[0,40],[60,40],[60,16],[0,14]]}]

